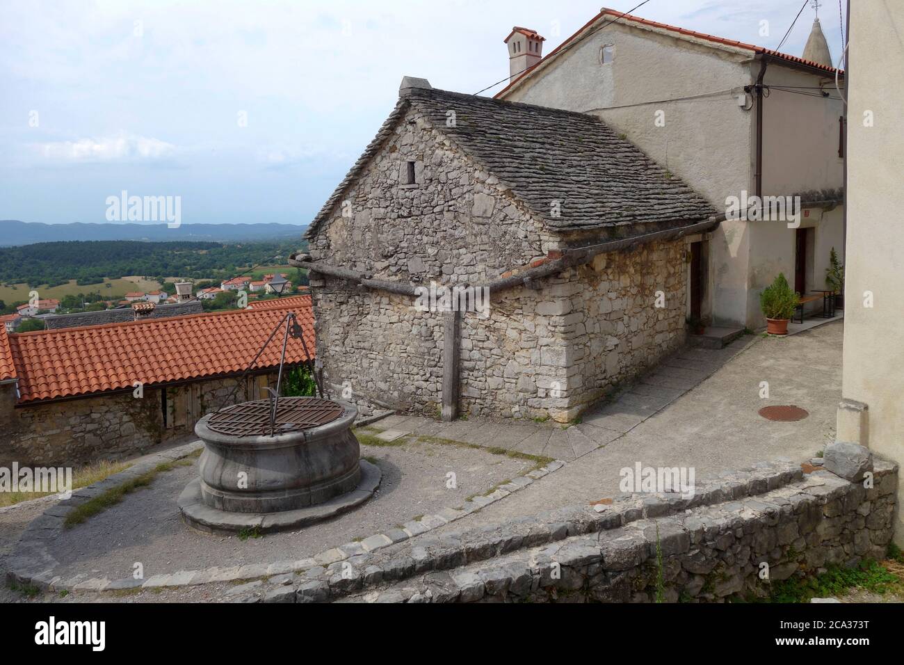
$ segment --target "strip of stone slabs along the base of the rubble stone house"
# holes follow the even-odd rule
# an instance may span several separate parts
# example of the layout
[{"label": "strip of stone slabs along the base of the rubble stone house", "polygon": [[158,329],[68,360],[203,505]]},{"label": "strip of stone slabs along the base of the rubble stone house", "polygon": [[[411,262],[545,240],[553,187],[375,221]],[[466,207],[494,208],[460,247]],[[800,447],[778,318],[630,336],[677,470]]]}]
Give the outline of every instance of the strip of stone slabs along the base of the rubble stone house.
[{"label": "strip of stone slabs along the base of the rubble stone house", "polygon": [[378,436],[384,441],[416,434],[574,461],[662,411],[758,339],[740,337],[721,349],[685,348],[635,384],[584,413],[576,426],[486,419],[440,423],[419,416],[391,415],[372,423],[370,428],[382,432]]}]

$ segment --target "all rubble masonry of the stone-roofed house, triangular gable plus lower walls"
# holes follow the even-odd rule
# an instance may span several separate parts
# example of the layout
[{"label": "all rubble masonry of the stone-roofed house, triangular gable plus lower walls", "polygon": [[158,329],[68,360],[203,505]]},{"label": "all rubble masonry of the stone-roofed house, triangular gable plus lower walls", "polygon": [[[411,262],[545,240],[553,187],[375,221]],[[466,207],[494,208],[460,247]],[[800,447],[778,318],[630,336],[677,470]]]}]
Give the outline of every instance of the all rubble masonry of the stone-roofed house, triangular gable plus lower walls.
[{"label": "all rubble masonry of the stone-roofed house, triangular gable plus lower walls", "polygon": [[[410,161],[416,185],[404,184]],[[544,230],[494,176],[410,112],[312,239],[310,253],[374,279],[473,285],[561,247],[560,235]],[[681,346],[683,251],[674,241],[608,254],[541,280],[536,290],[494,294],[488,317],[466,313],[460,411],[569,422]],[[315,279],[311,287],[317,362],[333,394],[345,388],[344,398],[363,413],[436,415],[442,316],[417,311],[411,298],[361,291],[344,280]],[[657,309],[660,290],[665,307]]]}]

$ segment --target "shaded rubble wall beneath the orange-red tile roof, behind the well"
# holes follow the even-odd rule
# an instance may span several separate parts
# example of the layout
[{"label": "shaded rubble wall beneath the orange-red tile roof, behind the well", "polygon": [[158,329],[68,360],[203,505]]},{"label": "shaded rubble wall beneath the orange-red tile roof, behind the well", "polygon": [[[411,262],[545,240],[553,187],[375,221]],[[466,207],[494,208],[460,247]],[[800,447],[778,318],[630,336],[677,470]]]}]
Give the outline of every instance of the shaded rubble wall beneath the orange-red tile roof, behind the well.
[{"label": "shaded rubble wall beneath the orange-red tile roof, behind the well", "polygon": [[[243,394],[259,398],[261,381],[275,384],[274,375],[250,377],[237,401]],[[215,379],[165,388],[166,420],[160,388],[146,388],[141,398],[127,392],[16,408],[14,384],[0,385],[0,465],[119,460],[190,437],[194,423],[225,404],[234,385],[235,379]]]}]

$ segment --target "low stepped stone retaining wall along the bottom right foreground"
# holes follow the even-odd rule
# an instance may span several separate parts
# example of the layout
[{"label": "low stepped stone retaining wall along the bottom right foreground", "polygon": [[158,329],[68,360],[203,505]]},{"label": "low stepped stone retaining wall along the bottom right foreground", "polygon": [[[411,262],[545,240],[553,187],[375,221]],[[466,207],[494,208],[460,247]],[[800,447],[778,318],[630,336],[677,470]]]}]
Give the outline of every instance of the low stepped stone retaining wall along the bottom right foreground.
[{"label": "low stepped stone retaining wall along the bottom right foreground", "polygon": [[315,566],[292,600],[650,603],[661,593],[664,602],[699,603],[766,597],[769,584],[792,575],[883,558],[898,472],[875,461],[867,488],[809,465],[760,463],[698,484],[689,499],[623,495],[597,507],[424,535],[325,569]]}]

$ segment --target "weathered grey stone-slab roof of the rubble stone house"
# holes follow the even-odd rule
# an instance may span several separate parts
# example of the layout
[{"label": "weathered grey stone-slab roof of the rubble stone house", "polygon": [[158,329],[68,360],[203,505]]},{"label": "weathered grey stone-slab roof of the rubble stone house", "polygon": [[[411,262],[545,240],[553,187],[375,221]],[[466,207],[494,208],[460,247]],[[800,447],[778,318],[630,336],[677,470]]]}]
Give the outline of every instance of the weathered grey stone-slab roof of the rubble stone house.
[{"label": "weathered grey stone-slab roof of the rubble stone house", "polygon": [[[377,137],[317,214],[307,238],[315,236],[410,108],[424,113],[434,128],[509,187],[553,230],[677,225],[715,214],[702,195],[593,116],[411,88],[403,90]],[[450,110],[456,113],[455,127],[447,127]],[[560,216],[554,216],[552,201],[560,201]]]}]

